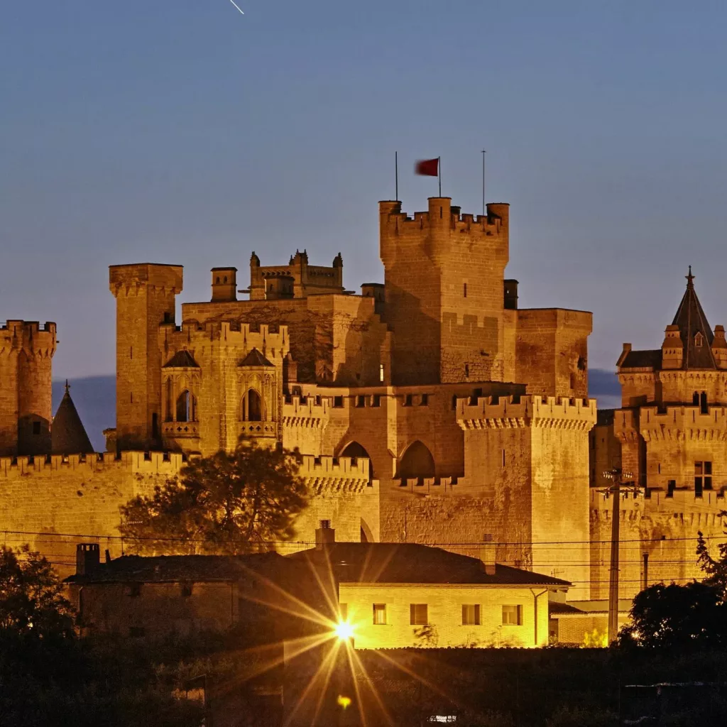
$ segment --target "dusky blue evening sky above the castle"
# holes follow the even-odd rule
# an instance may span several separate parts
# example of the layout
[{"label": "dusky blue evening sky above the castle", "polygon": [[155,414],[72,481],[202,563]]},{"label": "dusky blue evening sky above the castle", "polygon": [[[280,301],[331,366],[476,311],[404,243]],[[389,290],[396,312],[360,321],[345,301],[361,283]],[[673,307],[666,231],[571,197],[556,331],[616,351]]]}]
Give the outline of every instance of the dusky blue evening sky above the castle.
[{"label": "dusky blue evening sky above the castle", "polygon": [[114,370],[107,266],[340,250],[377,201],[508,201],[521,305],[593,310],[590,365],[661,344],[687,265],[727,323],[727,8],[701,0],[35,0],[0,20],[0,319],[55,320],[57,377]]}]

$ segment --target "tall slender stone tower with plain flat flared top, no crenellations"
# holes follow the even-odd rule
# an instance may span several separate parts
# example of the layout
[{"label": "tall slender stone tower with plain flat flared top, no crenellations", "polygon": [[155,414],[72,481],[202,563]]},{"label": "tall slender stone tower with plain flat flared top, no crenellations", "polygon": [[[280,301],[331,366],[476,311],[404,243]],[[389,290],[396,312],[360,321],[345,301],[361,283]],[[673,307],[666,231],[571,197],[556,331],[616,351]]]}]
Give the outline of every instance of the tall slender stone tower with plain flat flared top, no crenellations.
[{"label": "tall slender stone tower with plain flat flared top, no crenellations", "polygon": [[161,324],[174,323],[182,266],[111,265],[116,298],[116,446],[161,446]]}]

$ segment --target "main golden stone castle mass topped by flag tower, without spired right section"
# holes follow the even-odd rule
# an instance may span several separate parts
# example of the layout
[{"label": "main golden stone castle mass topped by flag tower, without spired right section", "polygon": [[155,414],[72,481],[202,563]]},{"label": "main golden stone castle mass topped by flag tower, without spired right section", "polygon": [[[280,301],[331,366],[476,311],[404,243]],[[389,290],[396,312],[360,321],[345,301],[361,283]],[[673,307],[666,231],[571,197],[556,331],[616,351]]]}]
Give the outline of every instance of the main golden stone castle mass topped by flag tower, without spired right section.
[{"label": "main golden stone castle mass topped by flag tower, without spired right section", "polygon": [[[71,433],[49,425],[55,326],[9,321],[6,538],[61,569],[75,534],[116,555],[119,505],[242,437],[305,455],[310,506],[292,549],[321,520],[339,540],[462,553],[487,537],[499,562],[571,580],[587,598],[591,314],[518,308],[507,204],[475,216],[434,197],[409,216],[383,201],[379,230],[384,284],[346,291],[340,255],[331,267],[305,251],[264,266],[253,253],[249,287],[238,290],[235,267],[212,268],[211,300],[182,303],[179,320],[180,266],[113,265],[116,429],[104,454],[78,449],[80,421]],[[54,438],[76,448],[54,450]]]}]

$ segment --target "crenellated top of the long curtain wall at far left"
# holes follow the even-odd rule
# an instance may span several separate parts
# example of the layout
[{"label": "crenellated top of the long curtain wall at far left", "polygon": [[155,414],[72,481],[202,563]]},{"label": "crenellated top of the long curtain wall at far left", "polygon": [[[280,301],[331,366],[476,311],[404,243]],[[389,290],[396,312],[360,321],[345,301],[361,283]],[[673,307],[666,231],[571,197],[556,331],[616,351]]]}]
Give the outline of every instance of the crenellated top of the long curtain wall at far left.
[{"label": "crenellated top of the long curtain wall at far left", "polygon": [[95,452],[94,454],[49,454],[36,457],[0,457],[0,480],[26,477],[35,473],[87,470],[126,470],[129,474],[168,475],[173,477],[182,468],[182,454],[175,452],[124,451]]}]

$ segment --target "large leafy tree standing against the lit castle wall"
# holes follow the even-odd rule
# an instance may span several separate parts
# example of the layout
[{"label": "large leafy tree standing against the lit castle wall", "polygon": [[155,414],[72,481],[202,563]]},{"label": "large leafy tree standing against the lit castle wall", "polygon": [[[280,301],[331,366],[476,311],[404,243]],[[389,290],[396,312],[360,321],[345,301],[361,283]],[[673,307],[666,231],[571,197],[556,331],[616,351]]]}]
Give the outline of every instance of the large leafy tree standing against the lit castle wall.
[{"label": "large leafy tree standing against the lit castle wall", "polygon": [[241,443],[194,459],[179,478],[121,507],[121,534],[137,553],[231,555],[288,539],[306,505],[297,449]]}]

